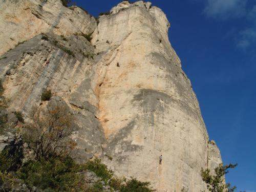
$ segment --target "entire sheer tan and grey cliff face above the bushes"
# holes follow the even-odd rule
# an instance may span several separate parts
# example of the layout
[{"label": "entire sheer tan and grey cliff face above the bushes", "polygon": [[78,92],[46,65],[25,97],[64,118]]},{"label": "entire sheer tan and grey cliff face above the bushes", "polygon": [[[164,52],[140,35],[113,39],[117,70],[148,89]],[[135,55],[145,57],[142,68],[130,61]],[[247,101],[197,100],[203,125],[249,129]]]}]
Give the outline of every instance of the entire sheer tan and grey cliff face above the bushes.
[{"label": "entire sheer tan and grey cliff face above the bushes", "polygon": [[[220,163],[220,153],[208,144],[159,8],[122,2],[98,25],[57,0],[2,0],[0,8],[0,77],[10,109],[26,115],[42,90],[51,89],[76,114],[80,161],[100,156],[118,176],[149,180],[159,191],[206,189],[200,170]],[[91,42],[82,33],[92,33]]]}]

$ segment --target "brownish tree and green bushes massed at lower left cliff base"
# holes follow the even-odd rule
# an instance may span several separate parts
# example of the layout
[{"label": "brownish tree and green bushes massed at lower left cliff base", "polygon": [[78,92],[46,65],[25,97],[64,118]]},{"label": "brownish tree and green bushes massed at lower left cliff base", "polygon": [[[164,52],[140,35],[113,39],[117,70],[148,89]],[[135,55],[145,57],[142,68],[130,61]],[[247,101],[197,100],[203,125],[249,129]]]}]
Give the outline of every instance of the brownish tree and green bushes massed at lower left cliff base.
[{"label": "brownish tree and green bushes massed at lower left cliff base", "polygon": [[[21,139],[5,147],[0,153],[0,191],[19,190],[24,184],[26,190],[22,191],[36,187],[43,191],[99,192],[106,186],[110,191],[155,191],[149,182],[114,177],[98,158],[84,164],[75,162],[69,152],[76,143],[68,137],[77,127],[68,106],[51,100],[45,108],[35,106],[28,118],[30,122],[22,128],[23,140],[28,145],[26,151],[34,155],[24,154],[24,159]],[[87,182],[87,173],[94,173],[97,181]]]}]

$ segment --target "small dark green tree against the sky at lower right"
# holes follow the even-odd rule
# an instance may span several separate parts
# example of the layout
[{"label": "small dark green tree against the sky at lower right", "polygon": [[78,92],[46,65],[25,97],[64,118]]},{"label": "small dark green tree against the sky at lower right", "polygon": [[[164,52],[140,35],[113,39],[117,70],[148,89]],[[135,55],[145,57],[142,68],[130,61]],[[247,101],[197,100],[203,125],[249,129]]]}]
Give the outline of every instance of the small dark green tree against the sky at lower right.
[{"label": "small dark green tree against the sky at lower right", "polygon": [[218,167],[215,168],[215,173],[211,175],[210,170],[207,168],[205,170],[201,170],[201,176],[203,181],[207,184],[207,188],[211,192],[232,192],[236,189],[236,186],[231,187],[229,183],[225,184],[225,174],[228,173],[229,168],[236,167],[237,164],[228,164],[223,165],[219,164]]}]

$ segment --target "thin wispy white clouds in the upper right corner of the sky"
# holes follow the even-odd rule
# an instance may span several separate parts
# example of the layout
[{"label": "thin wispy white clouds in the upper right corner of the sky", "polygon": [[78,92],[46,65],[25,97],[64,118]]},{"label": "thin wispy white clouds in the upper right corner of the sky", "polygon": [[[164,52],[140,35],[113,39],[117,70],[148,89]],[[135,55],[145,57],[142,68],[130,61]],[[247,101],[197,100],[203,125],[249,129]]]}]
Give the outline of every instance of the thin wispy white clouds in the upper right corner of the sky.
[{"label": "thin wispy white clouds in the upper right corner of the sky", "polygon": [[[254,6],[248,0],[194,0],[205,4],[204,14],[220,21],[243,17],[248,26],[244,29],[233,28],[225,37],[233,36],[236,47],[256,51],[256,1]],[[250,0],[251,1],[251,0]],[[250,5],[250,6],[249,6]]]}]

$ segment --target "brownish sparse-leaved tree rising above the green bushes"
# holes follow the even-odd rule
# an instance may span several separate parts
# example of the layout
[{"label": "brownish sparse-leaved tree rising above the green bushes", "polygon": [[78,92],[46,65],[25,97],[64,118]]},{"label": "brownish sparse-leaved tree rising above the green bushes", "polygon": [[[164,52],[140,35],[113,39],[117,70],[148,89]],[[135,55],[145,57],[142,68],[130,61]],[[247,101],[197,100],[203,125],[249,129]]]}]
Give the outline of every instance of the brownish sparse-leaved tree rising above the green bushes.
[{"label": "brownish sparse-leaved tree rising above the green bushes", "polygon": [[76,143],[69,136],[78,131],[74,115],[67,105],[51,100],[46,107],[34,106],[25,125],[24,140],[34,151],[35,158],[46,159],[70,153]]}]

